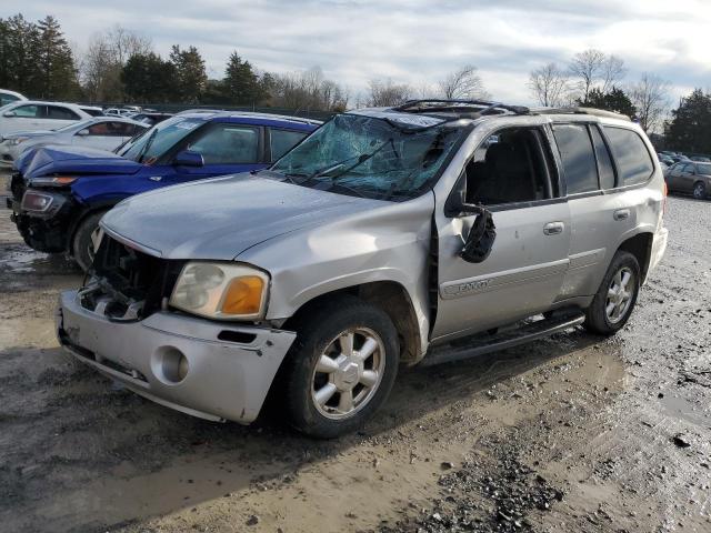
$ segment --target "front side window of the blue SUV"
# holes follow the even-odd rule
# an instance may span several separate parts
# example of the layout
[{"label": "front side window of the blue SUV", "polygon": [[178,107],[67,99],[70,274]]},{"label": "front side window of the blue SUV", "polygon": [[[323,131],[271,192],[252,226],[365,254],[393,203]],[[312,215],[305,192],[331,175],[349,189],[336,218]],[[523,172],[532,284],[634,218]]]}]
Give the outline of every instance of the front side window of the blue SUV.
[{"label": "front side window of the blue SUV", "polygon": [[188,150],[202,154],[204,164],[259,162],[259,128],[214,124],[192,141]]}]

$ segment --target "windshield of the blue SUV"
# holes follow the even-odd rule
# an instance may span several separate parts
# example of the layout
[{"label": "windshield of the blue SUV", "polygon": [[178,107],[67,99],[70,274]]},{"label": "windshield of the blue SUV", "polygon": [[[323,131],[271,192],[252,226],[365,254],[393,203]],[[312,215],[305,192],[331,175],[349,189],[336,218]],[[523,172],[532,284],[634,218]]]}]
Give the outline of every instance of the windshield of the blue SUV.
[{"label": "windshield of the blue SUV", "polygon": [[204,123],[204,120],[184,117],[168,119],[131,139],[118,151],[118,154],[138,163],[151,164]]}]

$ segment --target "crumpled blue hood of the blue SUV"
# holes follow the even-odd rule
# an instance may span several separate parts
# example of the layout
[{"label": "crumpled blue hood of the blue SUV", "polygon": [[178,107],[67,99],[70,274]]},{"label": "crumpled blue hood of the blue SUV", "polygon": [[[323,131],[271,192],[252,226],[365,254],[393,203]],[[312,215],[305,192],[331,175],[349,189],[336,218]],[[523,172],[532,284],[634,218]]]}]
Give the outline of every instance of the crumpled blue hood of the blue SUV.
[{"label": "crumpled blue hood of the blue SUV", "polygon": [[29,150],[33,153],[16,163],[26,178],[54,173],[134,174],[143,167],[113,152],[94,148],[46,144]]}]

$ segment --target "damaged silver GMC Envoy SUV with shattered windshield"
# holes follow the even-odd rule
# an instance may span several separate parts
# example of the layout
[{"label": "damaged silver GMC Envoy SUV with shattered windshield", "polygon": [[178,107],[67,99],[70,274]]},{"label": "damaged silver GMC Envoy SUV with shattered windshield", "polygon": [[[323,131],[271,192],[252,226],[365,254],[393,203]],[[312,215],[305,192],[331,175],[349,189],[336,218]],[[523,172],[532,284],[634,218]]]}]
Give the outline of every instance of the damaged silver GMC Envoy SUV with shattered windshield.
[{"label": "damaged silver GMC Envoy SUV with shattered windshield", "polygon": [[336,436],[401,363],[614,334],[667,247],[663,205],[652,145],[621,115],[352,111],[269,170],[117,205],[58,334],[162,405],[249,423],[272,394],[291,425]]}]

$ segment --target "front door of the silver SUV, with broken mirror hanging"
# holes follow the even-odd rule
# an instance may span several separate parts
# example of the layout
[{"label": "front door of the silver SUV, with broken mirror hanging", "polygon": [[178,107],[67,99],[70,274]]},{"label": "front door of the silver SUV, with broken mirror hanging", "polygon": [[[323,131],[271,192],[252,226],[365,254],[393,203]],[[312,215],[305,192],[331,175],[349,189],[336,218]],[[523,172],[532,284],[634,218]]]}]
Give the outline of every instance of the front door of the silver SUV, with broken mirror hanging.
[{"label": "front door of the silver SUV, with broken mirror hanging", "polygon": [[475,215],[437,213],[432,340],[484,331],[548,310],[569,263],[569,208],[560,198],[544,130],[495,131],[474,151],[459,183],[468,204],[481,203],[492,211],[497,238],[488,259],[467,262],[460,252]]}]

